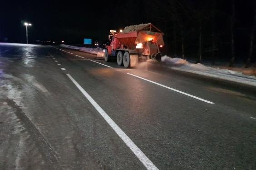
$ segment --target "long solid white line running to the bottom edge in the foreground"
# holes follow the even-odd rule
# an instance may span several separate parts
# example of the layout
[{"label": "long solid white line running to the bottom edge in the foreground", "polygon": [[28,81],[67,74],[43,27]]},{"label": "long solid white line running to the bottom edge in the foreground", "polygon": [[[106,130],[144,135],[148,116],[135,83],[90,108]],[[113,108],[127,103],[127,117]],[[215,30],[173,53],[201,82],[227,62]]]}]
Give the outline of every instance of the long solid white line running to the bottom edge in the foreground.
[{"label": "long solid white line running to the bottom edge in the foreground", "polygon": [[108,114],[96,103],[96,101],[81,87],[76,80],[69,74],[67,74],[69,79],[76,85],[76,87],[84,94],[84,96],[89,100],[89,102],[94,106],[98,113],[105,119],[110,127],[118,134],[118,136],[123,140],[123,142],[133,151],[133,153],[138,157],[138,159],[143,163],[143,165],[148,170],[158,170],[158,168],[153,164],[152,161],[138,148],[138,146],[133,143],[133,141],[123,132],[123,130],[108,116]]}]

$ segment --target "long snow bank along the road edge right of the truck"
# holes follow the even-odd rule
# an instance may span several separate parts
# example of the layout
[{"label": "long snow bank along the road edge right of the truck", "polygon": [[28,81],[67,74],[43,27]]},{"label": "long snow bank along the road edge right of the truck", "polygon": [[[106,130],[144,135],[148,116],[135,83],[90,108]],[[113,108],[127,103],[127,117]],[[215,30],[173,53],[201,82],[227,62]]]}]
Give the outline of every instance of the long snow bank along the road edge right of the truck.
[{"label": "long snow bank along the road edge right of the truck", "polygon": [[231,71],[227,69],[213,68],[203,64],[192,64],[182,58],[172,58],[168,56],[162,57],[162,62],[171,66],[171,69],[185,71],[197,75],[213,77],[222,80],[229,80],[236,83],[256,86],[256,77],[247,76],[239,71]]}]

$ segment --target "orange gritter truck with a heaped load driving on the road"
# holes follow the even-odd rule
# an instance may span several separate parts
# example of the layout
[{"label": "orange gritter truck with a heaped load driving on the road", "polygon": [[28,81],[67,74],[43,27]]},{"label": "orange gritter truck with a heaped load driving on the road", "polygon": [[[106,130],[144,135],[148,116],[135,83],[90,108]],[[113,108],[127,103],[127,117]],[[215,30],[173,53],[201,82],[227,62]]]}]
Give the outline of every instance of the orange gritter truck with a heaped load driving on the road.
[{"label": "orange gritter truck with a heaped load driving on the road", "polygon": [[110,30],[110,45],[106,46],[104,59],[109,61],[111,57],[116,57],[118,65],[126,68],[148,59],[161,61],[163,34],[151,23],[131,25],[119,32]]}]

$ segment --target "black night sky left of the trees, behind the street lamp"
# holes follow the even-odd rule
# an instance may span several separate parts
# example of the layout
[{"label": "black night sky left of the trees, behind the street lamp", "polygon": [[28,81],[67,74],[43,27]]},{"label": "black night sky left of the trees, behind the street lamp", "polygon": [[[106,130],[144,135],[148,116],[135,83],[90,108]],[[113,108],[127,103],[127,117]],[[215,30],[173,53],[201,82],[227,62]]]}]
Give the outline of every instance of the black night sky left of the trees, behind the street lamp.
[{"label": "black night sky left of the trees, behind the street lamp", "polygon": [[[24,42],[25,26],[22,21],[31,22],[33,25],[29,28],[30,39],[82,40],[84,37],[92,36],[102,38],[109,29],[141,22],[140,17],[134,18],[137,13],[130,10],[129,4],[137,4],[137,2],[134,0],[134,3],[122,5],[113,1],[88,3],[87,0],[67,2],[5,0],[1,2],[0,38],[8,37],[9,41]],[[129,10],[122,9],[121,6]]]}]

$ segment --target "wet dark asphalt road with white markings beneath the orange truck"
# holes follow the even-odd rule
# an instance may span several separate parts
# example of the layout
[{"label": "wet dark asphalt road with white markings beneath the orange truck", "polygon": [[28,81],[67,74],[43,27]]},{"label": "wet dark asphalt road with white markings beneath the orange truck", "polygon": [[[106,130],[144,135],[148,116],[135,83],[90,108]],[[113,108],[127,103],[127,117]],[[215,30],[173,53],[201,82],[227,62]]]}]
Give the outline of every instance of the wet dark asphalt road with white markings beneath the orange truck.
[{"label": "wet dark asphalt road with white markings beneath the orange truck", "polygon": [[1,170],[255,170],[256,94],[52,46],[0,46]]}]

